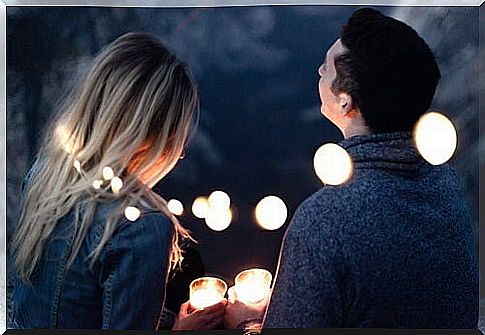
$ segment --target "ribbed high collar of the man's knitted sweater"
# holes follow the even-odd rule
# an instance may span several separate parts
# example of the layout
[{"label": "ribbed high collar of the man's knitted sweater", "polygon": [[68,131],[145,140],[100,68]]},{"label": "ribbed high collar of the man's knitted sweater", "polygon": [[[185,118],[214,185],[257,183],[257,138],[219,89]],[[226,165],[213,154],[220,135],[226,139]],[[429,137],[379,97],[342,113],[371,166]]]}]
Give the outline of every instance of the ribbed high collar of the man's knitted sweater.
[{"label": "ribbed high collar of the man's knitted sweater", "polygon": [[411,132],[357,135],[341,141],[355,168],[416,172],[425,164]]}]

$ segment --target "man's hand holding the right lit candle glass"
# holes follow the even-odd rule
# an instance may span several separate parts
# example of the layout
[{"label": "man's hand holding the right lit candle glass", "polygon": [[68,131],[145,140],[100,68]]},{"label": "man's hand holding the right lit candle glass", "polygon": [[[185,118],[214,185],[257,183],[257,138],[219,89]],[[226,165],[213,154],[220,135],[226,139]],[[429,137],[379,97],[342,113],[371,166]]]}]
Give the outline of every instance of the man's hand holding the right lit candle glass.
[{"label": "man's hand holding the right lit candle glass", "polygon": [[269,302],[269,296],[257,304],[245,304],[237,300],[234,286],[228,290],[229,303],[224,315],[224,326],[226,329],[236,329],[244,322],[251,325],[251,328],[260,328],[263,322],[264,314]]}]

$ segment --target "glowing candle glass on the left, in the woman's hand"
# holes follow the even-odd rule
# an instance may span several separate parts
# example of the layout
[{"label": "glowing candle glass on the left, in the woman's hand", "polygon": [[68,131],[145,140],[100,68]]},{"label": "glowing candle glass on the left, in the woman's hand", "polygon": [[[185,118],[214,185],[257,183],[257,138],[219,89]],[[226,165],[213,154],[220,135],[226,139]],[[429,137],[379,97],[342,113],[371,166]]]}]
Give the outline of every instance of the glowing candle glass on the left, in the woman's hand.
[{"label": "glowing candle glass on the left, in the woman's hand", "polygon": [[202,277],[190,283],[190,305],[204,308],[217,304],[226,295],[227,284],[215,277]]}]

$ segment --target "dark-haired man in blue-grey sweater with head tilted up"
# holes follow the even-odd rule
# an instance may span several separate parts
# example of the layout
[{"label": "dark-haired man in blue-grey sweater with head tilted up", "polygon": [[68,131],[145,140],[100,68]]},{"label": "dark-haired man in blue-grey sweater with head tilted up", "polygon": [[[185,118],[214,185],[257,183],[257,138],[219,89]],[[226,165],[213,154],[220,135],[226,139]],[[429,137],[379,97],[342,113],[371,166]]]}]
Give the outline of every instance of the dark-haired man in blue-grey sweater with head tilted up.
[{"label": "dark-haired man in blue-grey sweater with head tilted up", "polygon": [[[319,74],[321,112],[344,135],[353,175],[297,209],[263,327],[476,328],[476,246],[458,177],[412,138],[440,78],[431,50],[406,24],[361,9]],[[226,326],[255,324],[263,310],[229,303]]]}]

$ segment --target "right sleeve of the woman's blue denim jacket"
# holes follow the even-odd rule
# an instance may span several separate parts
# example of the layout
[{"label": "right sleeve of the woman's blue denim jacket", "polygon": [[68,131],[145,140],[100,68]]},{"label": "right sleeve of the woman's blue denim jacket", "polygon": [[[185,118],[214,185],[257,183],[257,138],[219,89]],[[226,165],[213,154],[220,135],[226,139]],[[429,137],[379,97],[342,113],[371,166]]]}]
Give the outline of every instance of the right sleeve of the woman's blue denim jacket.
[{"label": "right sleeve of the woman's blue denim jacket", "polygon": [[105,248],[103,329],[156,329],[165,299],[172,224],[160,213],[127,222]]}]

